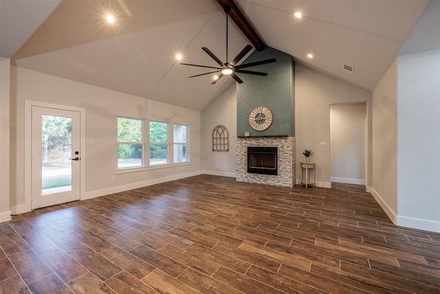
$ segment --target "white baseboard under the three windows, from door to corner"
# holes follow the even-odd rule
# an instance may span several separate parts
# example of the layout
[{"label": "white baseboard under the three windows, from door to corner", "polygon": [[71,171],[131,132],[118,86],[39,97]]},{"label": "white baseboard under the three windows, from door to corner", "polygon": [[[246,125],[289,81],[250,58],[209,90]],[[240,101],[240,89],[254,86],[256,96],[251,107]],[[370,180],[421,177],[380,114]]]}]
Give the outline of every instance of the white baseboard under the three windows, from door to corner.
[{"label": "white baseboard under the three windows, from door to corner", "polygon": [[129,185],[122,185],[122,186],[118,186],[118,187],[111,187],[111,188],[107,188],[107,189],[90,191],[90,192],[86,192],[85,196],[81,197],[81,200],[87,200],[87,199],[96,198],[96,197],[109,195],[109,194],[113,194],[113,193],[128,191],[131,189],[137,189],[137,188],[142,188],[142,187],[151,186],[151,185],[155,185],[155,184],[160,184],[161,182],[169,182],[170,180],[179,180],[181,178],[188,178],[190,176],[198,176],[199,174],[201,174],[200,171],[194,171],[191,173],[179,174],[179,175],[175,175],[175,176],[168,176],[168,177],[164,177],[164,178],[156,178],[153,180],[145,180],[142,182],[133,182],[132,184],[129,184]]}]

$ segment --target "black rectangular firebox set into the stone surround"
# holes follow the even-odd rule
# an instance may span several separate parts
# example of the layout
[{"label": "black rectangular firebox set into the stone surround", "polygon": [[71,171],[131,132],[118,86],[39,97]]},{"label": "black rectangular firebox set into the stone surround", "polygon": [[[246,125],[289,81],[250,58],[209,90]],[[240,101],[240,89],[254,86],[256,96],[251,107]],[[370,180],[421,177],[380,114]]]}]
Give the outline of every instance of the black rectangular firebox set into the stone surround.
[{"label": "black rectangular firebox set into the stone surround", "polygon": [[278,147],[248,147],[248,173],[278,175]]}]

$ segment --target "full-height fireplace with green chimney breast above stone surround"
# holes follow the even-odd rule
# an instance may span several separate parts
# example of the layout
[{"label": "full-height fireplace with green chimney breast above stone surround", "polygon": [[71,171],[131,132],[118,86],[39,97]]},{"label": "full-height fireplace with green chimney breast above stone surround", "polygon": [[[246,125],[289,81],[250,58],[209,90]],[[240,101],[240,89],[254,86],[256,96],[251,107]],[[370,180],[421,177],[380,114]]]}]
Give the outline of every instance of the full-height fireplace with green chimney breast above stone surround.
[{"label": "full-height fireplace with green chimney breast above stone surround", "polygon": [[[255,50],[243,61],[252,63],[265,59],[274,63],[259,65],[267,76],[243,74],[244,83],[236,84],[236,180],[265,185],[294,187],[295,163],[295,63],[292,56],[274,48]],[[252,127],[252,110],[264,106],[272,112],[272,124],[264,129]],[[256,157],[248,148],[263,147]],[[276,154],[269,154],[270,149]],[[259,148],[256,148],[258,150]],[[252,153],[252,152],[251,152]],[[275,158],[275,160],[274,160]]]}]

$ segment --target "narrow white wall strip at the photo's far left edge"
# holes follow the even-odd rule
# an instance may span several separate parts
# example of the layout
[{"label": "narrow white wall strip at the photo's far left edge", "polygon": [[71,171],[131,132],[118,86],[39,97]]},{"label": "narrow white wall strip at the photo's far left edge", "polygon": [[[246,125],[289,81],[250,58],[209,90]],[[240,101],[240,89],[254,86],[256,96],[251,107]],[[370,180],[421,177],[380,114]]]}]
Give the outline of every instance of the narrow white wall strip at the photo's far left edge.
[{"label": "narrow white wall strip at the photo's far left edge", "polygon": [[0,59],[0,222],[10,220],[10,59]]}]

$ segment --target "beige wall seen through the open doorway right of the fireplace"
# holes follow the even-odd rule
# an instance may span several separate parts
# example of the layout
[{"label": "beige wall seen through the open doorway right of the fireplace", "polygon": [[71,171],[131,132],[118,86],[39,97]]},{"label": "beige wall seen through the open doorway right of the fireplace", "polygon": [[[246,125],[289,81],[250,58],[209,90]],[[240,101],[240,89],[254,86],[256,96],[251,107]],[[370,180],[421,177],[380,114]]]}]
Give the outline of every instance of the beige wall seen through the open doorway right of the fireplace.
[{"label": "beige wall seen through the open doorway right of the fireplace", "polygon": [[366,103],[330,105],[331,182],[366,185]]}]

